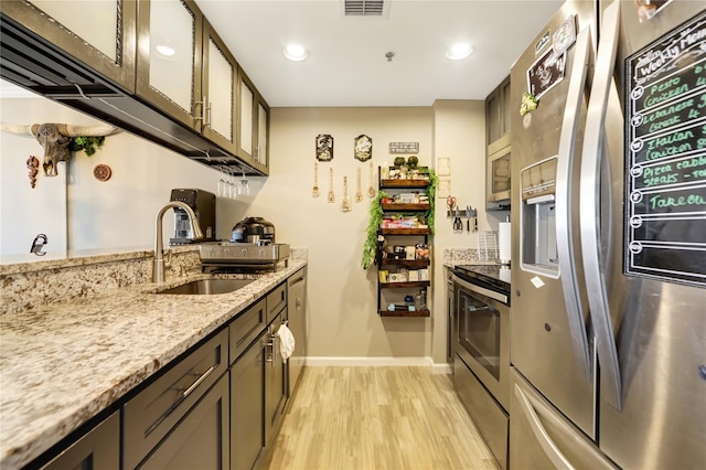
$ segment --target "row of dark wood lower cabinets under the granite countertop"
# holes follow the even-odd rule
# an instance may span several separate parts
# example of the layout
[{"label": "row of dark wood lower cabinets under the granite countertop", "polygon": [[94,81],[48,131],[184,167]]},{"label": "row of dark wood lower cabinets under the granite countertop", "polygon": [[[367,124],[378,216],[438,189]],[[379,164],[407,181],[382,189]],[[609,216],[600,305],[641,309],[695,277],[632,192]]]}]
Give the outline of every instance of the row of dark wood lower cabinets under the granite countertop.
[{"label": "row of dark wood lower cabinets under the granite countertop", "polygon": [[[301,367],[306,355],[302,271],[297,279],[301,289],[296,295],[293,331],[301,341],[297,343]],[[252,470],[258,466],[295,386],[289,384],[277,335],[288,321],[287,286],[282,282],[168,365],[120,404],[119,412],[41,468]],[[30,467],[38,463],[39,459]]]}]

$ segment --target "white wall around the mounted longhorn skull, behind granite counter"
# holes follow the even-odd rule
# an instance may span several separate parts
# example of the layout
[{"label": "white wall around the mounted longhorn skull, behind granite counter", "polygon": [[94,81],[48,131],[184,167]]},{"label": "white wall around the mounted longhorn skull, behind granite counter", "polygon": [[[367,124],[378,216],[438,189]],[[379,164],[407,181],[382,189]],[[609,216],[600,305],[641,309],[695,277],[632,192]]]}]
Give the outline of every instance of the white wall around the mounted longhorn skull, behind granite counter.
[{"label": "white wall around the mounted longhorn skull, behind granite counter", "polygon": [[[4,124],[104,124],[44,98],[2,99]],[[58,177],[45,177],[40,168],[36,188],[30,189],[25,160],[43,157],[33,137],[2,132],[0,154],[0,254],[26,253],[36,233],[50,243],[46,252],[93,248],[152,247],[156,215],[169,202],[173,188],[200,188],[216,193],[221,173],[128,132],[108,136],[94,156],[76,152]],[[113,177],[100,182],[93,175],[98,163],[108,164]],[[253,194],[258,184],[253,184]],[[216,234],[229,238],[234,223],[253,200],[216,202]],[[164,242],[173,236],[171,212],[164,216]]]}]

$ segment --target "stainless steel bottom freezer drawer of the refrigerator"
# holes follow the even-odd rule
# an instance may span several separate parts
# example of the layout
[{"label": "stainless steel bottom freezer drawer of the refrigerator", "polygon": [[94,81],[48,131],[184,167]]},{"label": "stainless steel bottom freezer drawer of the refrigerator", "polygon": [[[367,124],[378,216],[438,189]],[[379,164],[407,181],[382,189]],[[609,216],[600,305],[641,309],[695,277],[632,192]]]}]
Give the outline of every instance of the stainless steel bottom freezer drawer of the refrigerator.
[{"label": "stainless steel bottom freezer drawer of the refrigerator", "polygon": [[512,370],[510,468],[610,469],[617,467],[515,370]]}]

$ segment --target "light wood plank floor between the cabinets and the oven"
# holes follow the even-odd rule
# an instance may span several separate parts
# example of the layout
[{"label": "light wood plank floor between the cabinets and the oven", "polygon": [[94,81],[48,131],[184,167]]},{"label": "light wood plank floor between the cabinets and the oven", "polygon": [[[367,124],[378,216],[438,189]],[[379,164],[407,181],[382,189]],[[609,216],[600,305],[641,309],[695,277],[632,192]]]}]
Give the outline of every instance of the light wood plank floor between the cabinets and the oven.
[{"label": "light wood plank floor between the cabinets and the oven", "polygon": [[453,389],[429,367],[310,366],[264,468],[499,469]]}]

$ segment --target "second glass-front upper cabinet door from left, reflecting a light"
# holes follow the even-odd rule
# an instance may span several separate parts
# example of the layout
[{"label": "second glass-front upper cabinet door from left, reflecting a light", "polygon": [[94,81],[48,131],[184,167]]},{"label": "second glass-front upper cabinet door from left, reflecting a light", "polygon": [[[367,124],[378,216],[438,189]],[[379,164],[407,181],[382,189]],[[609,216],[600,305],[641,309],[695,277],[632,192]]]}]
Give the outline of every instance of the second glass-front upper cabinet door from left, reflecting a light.
[{"label": "second glass-front upper cabinet door from left, reflecting a light", "polygon": [[137,94],[200,131],[203,15],[191,1],[140,0],[138,18]]}]

